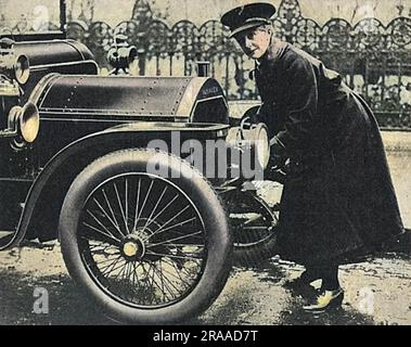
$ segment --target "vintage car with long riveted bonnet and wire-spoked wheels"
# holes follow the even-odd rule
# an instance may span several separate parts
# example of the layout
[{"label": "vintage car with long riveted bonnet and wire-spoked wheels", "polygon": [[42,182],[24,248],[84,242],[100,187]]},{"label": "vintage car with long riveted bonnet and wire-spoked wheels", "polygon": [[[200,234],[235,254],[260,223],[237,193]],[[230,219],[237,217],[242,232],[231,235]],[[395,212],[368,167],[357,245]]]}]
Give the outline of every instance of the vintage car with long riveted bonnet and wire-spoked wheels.
[{"label": "vintage car with long riveted bonnet and wire-spoked wheels", "polygon": [[[64,10],[61,1],[60,30],[0,39],[0,250],[59,240],[70,275],[114,320],[195,317],[233,259],[253,265],[274,252],[277,211],[241,170],[246,157],[267,166],[266,128],[232,126],[222,88],[206,76],[100,76],[90,50],[65,39]],[[125,67],[134,49],[111,56]],[[222,142],[223,159],[200,162],[231,174],[207,175],[194,145],[175,151],[176,138]]]}]

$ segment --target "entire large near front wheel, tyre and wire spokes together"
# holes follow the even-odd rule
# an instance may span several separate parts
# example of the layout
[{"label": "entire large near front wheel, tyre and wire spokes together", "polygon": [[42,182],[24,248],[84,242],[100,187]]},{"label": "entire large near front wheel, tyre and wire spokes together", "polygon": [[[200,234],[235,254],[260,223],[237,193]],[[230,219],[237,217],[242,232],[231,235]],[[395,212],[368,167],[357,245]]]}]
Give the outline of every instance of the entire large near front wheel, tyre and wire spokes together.
[{"label": "entire large near front wheel, tyre and wire spokes together", "polygon": [[[153,158],[169,176],[147,170]],[[121,322],[195,317],[231,269],[232,240],[217,194],[166,153],[120,151],[92,163],[66,195],[60,236],[72,277]]]}]

